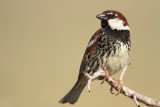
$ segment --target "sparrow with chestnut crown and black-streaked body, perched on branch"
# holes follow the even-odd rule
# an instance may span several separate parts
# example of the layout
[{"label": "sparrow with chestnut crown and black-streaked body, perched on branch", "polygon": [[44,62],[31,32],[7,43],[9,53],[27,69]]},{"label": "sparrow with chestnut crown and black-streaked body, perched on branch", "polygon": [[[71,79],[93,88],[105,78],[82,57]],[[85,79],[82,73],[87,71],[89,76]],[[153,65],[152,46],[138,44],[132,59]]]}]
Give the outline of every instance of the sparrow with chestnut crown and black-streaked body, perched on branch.
[{"label": "sparrow with chestnut crown and black-streaked body, perched on branch", "polygon": [[117,72],[121,72],[118,86],[123,86],[122,78],[129,66],[131,48],[127,19],[115,10],[106,10],[96,17],[101,20],[101,28],[93,34],[88,43],[77,82],[60,103],[74,104],[87,83],[90,91],[92,80],[104,81]]}]

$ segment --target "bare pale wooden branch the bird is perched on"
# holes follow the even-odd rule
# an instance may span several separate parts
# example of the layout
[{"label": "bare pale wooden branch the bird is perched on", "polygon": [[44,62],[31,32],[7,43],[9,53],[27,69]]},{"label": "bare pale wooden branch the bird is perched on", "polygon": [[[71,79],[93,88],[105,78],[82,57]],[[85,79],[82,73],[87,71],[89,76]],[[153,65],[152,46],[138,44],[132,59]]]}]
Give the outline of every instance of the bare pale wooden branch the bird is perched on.
[{"label": "bare pale wooden branch the bird is perched on", "polygon": [[[102,69],[99,69],[97,72],[95,72],[93,75],[90,75],[86,72],[84,74],[88,77],[88,90],[90,91],[90,84],[91,81],[94,79],[97,79],[98,77],[104,77],[105,76],[105,71]],[[110,91],[112,92],[113,89],[118,91],[118,83],[111,77],[109,77],[106,82],[111,86]],[[152,98],[149,98],[145,95],[142,95],[140,93],[137,93],[136,91],[133,91],[129,89],[128,87],[124,86],[122,87],[123,89],[120,91],[121,94],[131,98],[134,100],[135,104],[140,107],[139,102],[146,104],[149,107],[160,107],[160,102],[157,100],[154,100]]]}]

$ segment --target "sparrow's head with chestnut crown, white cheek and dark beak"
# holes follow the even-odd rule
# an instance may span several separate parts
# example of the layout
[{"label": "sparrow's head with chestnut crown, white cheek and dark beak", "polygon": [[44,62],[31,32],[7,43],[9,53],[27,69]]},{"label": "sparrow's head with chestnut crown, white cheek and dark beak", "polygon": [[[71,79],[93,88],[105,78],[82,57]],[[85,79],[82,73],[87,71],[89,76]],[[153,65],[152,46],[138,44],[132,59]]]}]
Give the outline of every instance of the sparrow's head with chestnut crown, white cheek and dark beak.
[{"label": "sparrow's head with chestnut crown, white cheek and dark beak", "polygon": [[111,28],[112,30],[129,30],[127,19],[118,11],[106,10],[96,17],[101,20],[102,28]]}]

